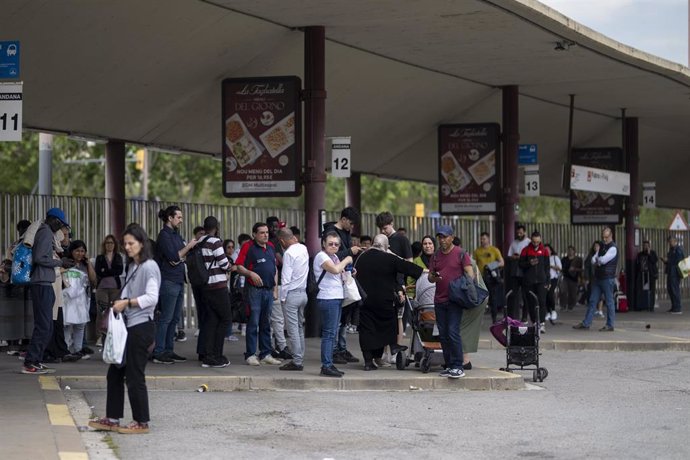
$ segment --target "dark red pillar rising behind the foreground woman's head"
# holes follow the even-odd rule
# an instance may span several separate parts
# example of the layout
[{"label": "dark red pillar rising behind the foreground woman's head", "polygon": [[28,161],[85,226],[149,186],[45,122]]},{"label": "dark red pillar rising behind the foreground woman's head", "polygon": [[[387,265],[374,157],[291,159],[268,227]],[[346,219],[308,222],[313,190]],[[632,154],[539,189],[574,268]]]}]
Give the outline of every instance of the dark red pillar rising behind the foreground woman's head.
[{"label": "dark red pillar rising behind the foreground woman's head", "polygon": [[105,146],[105,197],[110,202],[110,231],[120,237],[125,230],[125,143]]}]

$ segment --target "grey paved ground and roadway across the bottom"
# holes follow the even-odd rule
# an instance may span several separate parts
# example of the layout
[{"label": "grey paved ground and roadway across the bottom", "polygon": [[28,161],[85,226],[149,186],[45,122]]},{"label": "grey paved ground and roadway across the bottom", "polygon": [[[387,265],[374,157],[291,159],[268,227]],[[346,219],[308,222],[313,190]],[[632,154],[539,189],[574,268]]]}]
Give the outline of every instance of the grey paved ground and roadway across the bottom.
[{"label": "grey paved ground and roadway across the bottom", "polygon": [[[152,364],[147,374],[154,432],[137,439],[114,435],[106,438],[109,444],[102,435],[77,431],[92,416],[90,406],[99,415],[105,406],[106,366],[98,357],[55,365],[56,378],[39,381],[18,374],[20,361],[3,353],[0,458],[86,458],[86,449],[91,458],[109,458],[112,446],[121,458],[134,458],[143,445],[156,446],[147,450],[147,458],[159,458],[156,452],[196,457],[211,445],[206,458],[375,458],[389,453],[450,458],[465,452],[497,456],[504,450],[540,458],[687,458],[680,439],[690,425],[690,315],[620,314],[616,331],[604,333],[596,327],[573,330],[570,326],[582,314],[582,309],[562,314],[561,324],[547,326],[542,362],[550,374],[543,391],[457,391],[524,388],[519,376],[497,371],[505,353],[486,331],[472,359],[475,369],[452,386],[413,367],[364,372],[348,365],[342,380],[319,377],[318,339],[308,340],[305,372],[289,376],[274,367],[244,365],[242,342],[228,344],[233,365],[226,369],[202,369],[193,359]],[[349,339],[356,352],[357,336]],[[191,358],[194,346],[190,338],[178,345],[178,352]],[[522,375],[531,377],[531,372]],[[215,391],[196,393],[200,383]],[[232,389],[280,391],[218,392]],[[315,391],[351,389],[404,391]],[[338,436],[338,431],[347,434]]]}]

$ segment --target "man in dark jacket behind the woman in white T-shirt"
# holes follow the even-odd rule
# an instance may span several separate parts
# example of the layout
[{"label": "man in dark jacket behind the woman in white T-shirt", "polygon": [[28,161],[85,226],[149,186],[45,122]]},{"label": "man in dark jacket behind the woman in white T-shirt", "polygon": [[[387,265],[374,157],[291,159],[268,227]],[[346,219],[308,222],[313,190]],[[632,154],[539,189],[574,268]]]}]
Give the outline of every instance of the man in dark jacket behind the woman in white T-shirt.
[{"label": "man in dark jacket behind the woman in white T-shirt", "polygon": [[[340,237],[340,249],[336,252],[338,259],[343,260],[347,256],[356,257],[362,249],[359,246],[352,245],[352,227],[359,222],[359,211],[348,206],[340,211],[340,219],[336,222],[327,222],[323,226],[324,234],[333,231]],[[358,302],[343,307],[340,315],[340,328],[338,329],[338,337],[333,351],[333,362],[335,364],[358,363],[359,359],[354,357],[352,353],[347,350],[347,324],[353,316],[354,309],[359,308]]]}]

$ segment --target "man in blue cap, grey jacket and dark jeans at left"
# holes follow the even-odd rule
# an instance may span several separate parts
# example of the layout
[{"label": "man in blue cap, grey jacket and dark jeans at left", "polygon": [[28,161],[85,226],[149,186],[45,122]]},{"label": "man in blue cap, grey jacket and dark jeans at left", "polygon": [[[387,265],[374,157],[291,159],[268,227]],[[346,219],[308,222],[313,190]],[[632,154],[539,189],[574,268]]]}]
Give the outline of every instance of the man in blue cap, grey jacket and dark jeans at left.
[{"label": "man in blue cap, grey jacket and dark jeans at left", "polygon": [[56,257],[56,236],[62,240],[61,230],[64,227],[69,227],[65,213],[60,208],[52,208],[46,213],[45,221],[39,221],[29,227],[24,238],[24,244],[32,248],[30,290],[33,301],[34,330],[29,350],[24,358],[23,374],[55,372],[41,364],[41,359],[53,335],[55,269],[70,268],[74,265],[70,259],[65,259],[63,262]]}]

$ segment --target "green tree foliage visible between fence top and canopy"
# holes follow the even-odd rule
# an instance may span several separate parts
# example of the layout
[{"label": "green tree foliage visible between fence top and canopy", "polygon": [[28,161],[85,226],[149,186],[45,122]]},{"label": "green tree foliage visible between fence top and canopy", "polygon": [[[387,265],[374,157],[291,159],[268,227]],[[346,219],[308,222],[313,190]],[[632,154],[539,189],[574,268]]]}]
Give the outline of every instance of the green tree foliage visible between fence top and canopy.
[{"label": "green tree foliage visible between fence top and canopy", "polygon": [[[25,133],[22,142],[0,143],[1,191],[30,194],[37,191],[38,133]],[[136,168],[137,146],[126,150],[126,194],[141,197],[143,172]],[[149,153],[149,199],[191,203],[304,209],[304,198],[234,198],[222,195],[221,162],[198,155]],[[438,210],[437,186],[421,182],[362,176],[362,211],[383,210],[394,215],[414,215],[415,204],[424,203],[427,215]],[[105,194],[105,146],[54,136],[53,194],[95,196]],[[328,177],[326,209],[345,205],[345,180]],[[667,228],[675,210],[640,209],[640,226]],[[518,219],[525,222],[569,223],[567,199],[521,197]]]}]

